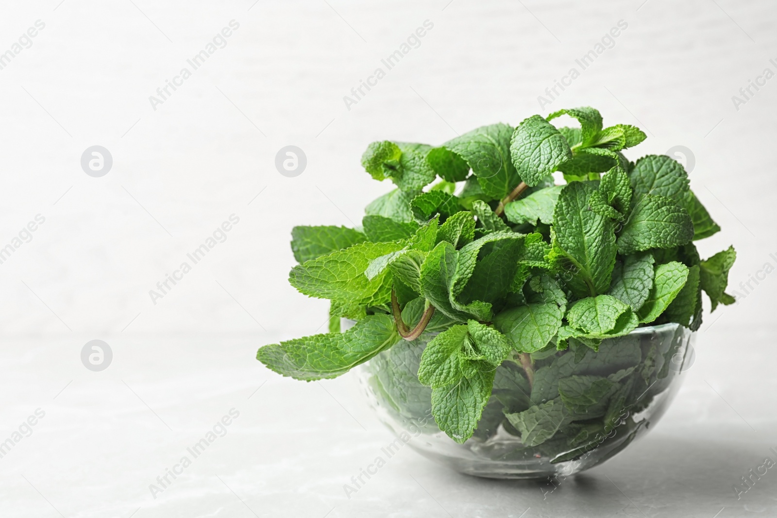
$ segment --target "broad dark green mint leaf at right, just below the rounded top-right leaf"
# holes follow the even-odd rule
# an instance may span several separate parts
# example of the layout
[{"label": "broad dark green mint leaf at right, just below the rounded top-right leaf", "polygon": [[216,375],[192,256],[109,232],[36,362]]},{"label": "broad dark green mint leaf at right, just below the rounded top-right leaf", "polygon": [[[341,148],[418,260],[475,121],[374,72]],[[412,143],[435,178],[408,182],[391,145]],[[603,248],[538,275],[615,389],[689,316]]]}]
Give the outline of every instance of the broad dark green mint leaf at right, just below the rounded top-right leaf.
[{"label": "broad dark green mint leaf at right, just below the rounded top-right leaf", "polygon": [[643,194],[618,236],[618,252],[669,249],[692,238],[693,223],[684,208],[666,196]]}]

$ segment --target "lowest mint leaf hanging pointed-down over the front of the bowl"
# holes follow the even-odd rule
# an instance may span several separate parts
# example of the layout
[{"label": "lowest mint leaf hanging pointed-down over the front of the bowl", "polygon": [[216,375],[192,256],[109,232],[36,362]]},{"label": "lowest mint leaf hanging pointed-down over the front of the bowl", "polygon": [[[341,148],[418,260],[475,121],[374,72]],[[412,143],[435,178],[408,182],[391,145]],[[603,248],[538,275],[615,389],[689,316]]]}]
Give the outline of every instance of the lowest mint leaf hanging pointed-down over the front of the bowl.
[{"label": "lowest mint leaf hanging pointed-down over the front of the bowl", "polygon": [[437,426],[457,443],[472,436],[491,396],[493,370],[432,389],[432,415]]}]

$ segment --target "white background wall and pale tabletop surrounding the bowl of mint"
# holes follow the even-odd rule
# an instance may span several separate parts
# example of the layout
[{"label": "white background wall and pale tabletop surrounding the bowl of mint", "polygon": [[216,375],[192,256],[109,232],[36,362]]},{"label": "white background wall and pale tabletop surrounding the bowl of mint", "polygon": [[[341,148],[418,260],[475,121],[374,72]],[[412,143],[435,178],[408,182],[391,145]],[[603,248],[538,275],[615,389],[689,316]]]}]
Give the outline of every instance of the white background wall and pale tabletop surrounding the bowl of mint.
[{"label": "white background wall and pale tabletop surrounding the bowl of mint", "polygon": [[[290,231],[360,224],[391,189],[359,165],[370,141],[440,144],[564,107],[645,130],[629,158],[692,150],[692,188],[723,228],[699,249],[733,244],[730,286],[745,294],[740,282],[777,266],[777,79],[732,102],[777,72],[769,2],[59,2],[5,2],[0,16],[0,52],[45,23],[0,70],[0,247],[46,219],[0,264],[0,440],[46,412],[0,459],[0,515],[775,513],[772,471],[739,501],[731,489],[777,446],[773,275],[706,315],[657,431],[546,500],[409,449],[346,499],[342,485],[390,440],[354,377],[303,384],[254,360],[326,322],[326,301],[287,284]],[[232,19],[226,46],[154,110],[149,96]],[[424,20],[420,47],[347,110],[343,96]],[[541,110],[618,20],[615,46]],[[80,165],[95,144],[113,155],[101,178]],[[274,167],[287,144],[307,155],[301,176]],[[153,304],[148,291],[230,214],[228,239]],[[90,339],[113,349],[103,372],[81,363]],[[225,438],[153,499],[148,485],[230,408],[241,414]]]}]

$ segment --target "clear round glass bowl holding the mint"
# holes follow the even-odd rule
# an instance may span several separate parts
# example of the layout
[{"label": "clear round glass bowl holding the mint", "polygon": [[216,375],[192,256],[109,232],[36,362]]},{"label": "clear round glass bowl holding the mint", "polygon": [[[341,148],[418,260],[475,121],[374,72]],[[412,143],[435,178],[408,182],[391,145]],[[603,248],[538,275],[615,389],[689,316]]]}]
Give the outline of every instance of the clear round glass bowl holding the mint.
[{"label": "clear round glass bowl holding the mint", "polygon": [[[402,441],[456,471],[488,478],[572,475],[601,464],[664,415],[681,374],[694,360],[695,333],[678,324],[664,324],[607,339],[598,353],[580,345],[550,351],[542,359],[542,353],[535,354],[531,386],[521,367],[505,362],[497,370],[478,429],[458,444],[437,428],[431,415],[431,389],[416,377],[423,348],[435,334],[421,335],[413,342],[402,340],[379,353],[359,368],[360,383],[379,419],[397,437],[397,448],[401,446],[397,441]],[[562,378],[569,378],[562,382],[563,399],[558,389]],[[570,391],[592,381],[598,382],[597,390],[604,395],[593,405],[575,406],[580,399]],[[535,408],[549,399],[555,399],[554,405],[570,407],[568,415],[558,419],[546,412],[547,407]],[[530,407],[538,419],[544,415],[557,429],[544,441],[529,435],[524,444],[506,413],[514,416]]]}]

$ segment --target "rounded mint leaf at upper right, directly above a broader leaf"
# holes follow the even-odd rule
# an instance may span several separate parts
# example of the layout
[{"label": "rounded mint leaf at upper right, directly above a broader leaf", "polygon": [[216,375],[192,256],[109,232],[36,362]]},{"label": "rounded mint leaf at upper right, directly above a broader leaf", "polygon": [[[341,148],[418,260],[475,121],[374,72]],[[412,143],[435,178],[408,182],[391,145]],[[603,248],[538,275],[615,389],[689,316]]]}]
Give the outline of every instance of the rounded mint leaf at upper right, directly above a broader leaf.
[{"label": "rounded mint leaf at upper right, directly above a broader leaf", "polygon": [[653,194],[679,203],[688,191],[688,173],[680,162],[667,155],[639,158],[629,178],[636,198],[640,194]]}]

